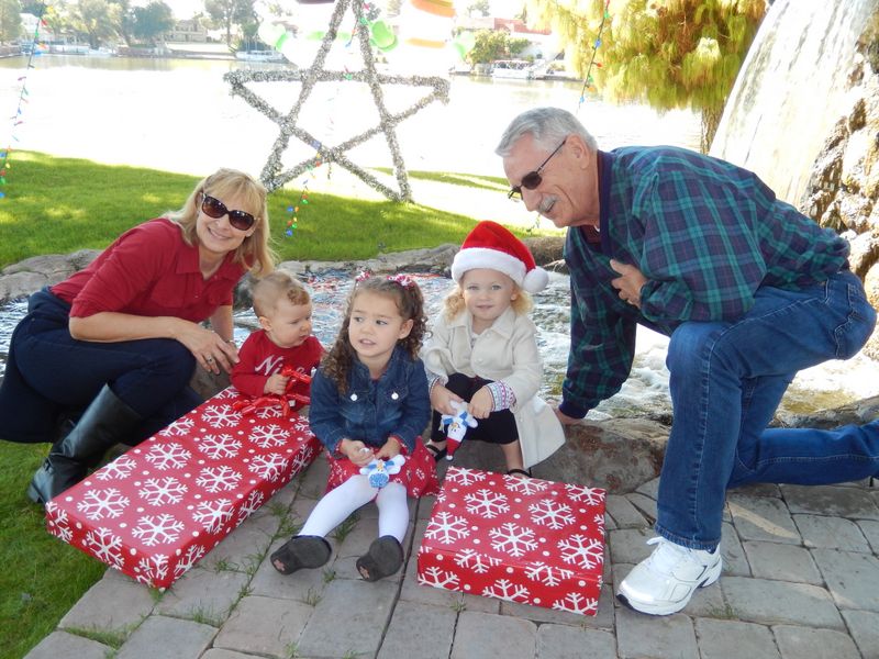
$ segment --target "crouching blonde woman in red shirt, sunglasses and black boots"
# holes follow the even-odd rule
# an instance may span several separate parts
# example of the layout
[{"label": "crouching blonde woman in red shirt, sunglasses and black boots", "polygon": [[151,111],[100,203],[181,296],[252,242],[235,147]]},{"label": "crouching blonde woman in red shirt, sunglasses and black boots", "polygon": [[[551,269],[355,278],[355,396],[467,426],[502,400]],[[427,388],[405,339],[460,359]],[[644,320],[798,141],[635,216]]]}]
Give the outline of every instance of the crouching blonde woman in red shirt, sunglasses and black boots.
[{"label": "crouching blonde woman in red shirt, sunglasses and black boots", "polygon": [[268,235],[266,189],[220,169],[182,209],[31,297],[0,387],[0,438],[54,443],[27,489],[34,502],[85,478],[114,444],[136,444],[200,404],[194,367],[232,369],[233,292],[248,270],[272,269]]}]

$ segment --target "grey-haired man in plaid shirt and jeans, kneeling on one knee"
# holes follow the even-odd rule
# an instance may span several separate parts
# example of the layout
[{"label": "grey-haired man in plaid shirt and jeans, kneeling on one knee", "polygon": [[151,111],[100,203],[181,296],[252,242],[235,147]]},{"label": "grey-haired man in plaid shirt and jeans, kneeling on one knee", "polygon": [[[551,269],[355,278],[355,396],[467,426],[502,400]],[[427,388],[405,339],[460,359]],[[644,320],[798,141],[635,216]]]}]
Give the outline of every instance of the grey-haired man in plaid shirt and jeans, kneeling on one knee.
[{"label": "grey-haired man in plaid shirt and jeans, kneeling on one knee", "polygon": [[636,325],[670,337],[674,424],[658,537],[617,585],[623,603],[667,615],[717,580],[727,488],[879,471],[875,432],[791,442],[766,429],[797,371],[853,356],[874,328],[845,239],[723,160],[664,146],[602,152],[565,110],[520,114],[497,154],[510,194],[568,227],[571,346],[561,422],[576,423],[619,391]]}]

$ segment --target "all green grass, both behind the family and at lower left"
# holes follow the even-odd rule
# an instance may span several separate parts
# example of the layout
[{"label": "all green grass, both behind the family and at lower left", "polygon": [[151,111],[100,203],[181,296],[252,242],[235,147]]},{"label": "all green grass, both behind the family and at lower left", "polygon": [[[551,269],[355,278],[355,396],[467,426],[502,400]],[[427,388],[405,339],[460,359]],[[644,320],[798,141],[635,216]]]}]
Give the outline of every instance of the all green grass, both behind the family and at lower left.
[{"label": "all green grass, both behind the family and at lower left", "polygon": [[[2,188],[5,198],[0,199],[0,268],[42,254],[103,248],[129,227],[179,208],[198,180],[32,152],[14,152]],[[505,181],[491,177],[412,171],[409,176],[499,192],[507,189]],[[294,189],[269,197],[275,249],[281,260],[364,259],[379,252],[460,243],[475,222],[418,204],[310,193],[309,203],[300,206],[293,237],[286,238],[287,208],[299,199],[300,190]],[[500,194],[499,199],[503,203]],[[24,495],[47,450],[46,445],[0,442],[0,648],[4,648],[0,654],[4,659],[23,657],[48,635],[104,571],[96,559],[49,536],[42,509]],[[343,525],[343,534],[353,522]],[[291,521],[286,524],[283,535],[299,526]]]}]

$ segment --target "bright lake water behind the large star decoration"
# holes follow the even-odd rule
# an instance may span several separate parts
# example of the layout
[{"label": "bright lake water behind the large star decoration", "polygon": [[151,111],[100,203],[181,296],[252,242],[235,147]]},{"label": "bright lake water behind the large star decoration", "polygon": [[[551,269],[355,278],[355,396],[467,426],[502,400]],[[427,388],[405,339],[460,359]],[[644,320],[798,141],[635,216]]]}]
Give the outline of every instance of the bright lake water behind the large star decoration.
[{"label": "bright lake water behind the large star decoration", "polygon": [[[223,74],[282,65],[73,55],[43,55],[33,63],[27,69],[24,57],[0,59],[0,116],[15,115],[19,79],[26,75],[27,102],[12,143],[16,148],[192,175],[220,166],[258,175],[278,136],[277,124],[231,96]],[[287,113],[299,85],[256,83],[252,89]],[[405,166],[502,176],[493,154],[500,133],[515,114],[536,105],[577,112],[602,148],[698,147],[699,119],[689,111],[659,116],[643,105],[610,105],[598,99],[580,105],[580,91],[579,82],[455,76],[447,104],[427,105],[397,127]],[[391,111],[402,110],[424,93],[424,88],[391,86],[386,102]],[[332,145],[375,125],[377,116],[364,85],[324,82],[315,86],[299,124]],[[11,121],[0,123],[0,146],[10,144],[11,131]],[[285,164],[312,155],[291,141]],[[382,134],[355,149],[352,158],[361,166],[392,167]]]}]

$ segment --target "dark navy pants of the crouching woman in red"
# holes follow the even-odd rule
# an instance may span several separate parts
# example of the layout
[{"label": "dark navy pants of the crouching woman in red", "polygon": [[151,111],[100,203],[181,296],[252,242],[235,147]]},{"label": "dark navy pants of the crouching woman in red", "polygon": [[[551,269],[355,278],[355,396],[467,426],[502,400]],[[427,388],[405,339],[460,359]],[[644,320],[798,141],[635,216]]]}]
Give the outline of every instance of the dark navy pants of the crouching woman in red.
[{"label": "dark navy pants of the crouching woman in red", "polygon": [[0,439],[52,442],[58,414],[81,412],[104,384],[144,418],[133,439],[201,403],[189,388],[196,359],[181,343],[77,340],[68,330],[69,309],[47,289],[31,295],[0,386]]}]

